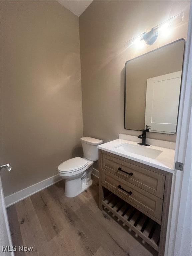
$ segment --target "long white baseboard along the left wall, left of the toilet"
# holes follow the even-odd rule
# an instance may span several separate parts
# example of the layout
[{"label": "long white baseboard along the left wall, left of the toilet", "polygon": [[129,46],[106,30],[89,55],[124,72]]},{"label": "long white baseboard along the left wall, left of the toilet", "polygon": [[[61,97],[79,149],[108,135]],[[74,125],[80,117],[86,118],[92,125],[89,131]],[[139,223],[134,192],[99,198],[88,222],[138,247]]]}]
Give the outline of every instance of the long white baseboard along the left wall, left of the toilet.
[{"label": "long white baseboard along the left wall, left of the toilet", "polygon": [[5,197],[5,205],[6,207],[9,207],[53,184],[55,184],[56,182],[62,180],[63,178],[61,176],[59,176],[58,174],[55,176],[52,176],[46,180],[42,180],[28,188],[24,188],[12,195],[6,196]]}]

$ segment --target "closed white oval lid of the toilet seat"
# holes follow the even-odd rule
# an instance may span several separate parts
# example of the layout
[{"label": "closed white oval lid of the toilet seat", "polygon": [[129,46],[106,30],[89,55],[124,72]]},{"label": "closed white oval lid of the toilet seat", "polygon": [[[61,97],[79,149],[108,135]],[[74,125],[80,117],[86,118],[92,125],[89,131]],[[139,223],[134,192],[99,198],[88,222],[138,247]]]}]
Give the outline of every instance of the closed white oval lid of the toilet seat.
[{"label": "closed white oval lid of the toilet seat", "polygon": [[84,168],[88,161],[81,157],[71,158],[58,166],[60,172],[74,172]]}]

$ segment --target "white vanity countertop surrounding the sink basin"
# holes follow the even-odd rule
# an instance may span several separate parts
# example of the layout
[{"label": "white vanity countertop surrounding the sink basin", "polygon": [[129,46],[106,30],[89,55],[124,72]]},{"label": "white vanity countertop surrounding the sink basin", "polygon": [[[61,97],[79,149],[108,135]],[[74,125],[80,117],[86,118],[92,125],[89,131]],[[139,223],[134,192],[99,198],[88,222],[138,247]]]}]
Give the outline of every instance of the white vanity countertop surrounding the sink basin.
[{"label": "white vanity countertop surrounding the sink basin", "polygon": [[[131,138],[131,137],[135,137],[135,136],[129,136],[129,138]],[[159,146],[150,144],[151,149],[157,149],[157,150],[162,151],[160,153],[160,155],[158,155],[155,159],[152,159],[149,157],[141,156],[138,154],[130,153],[128,151],[124,151],[124,150],[115,148],[115,146],[117,146],[121,143],[129,143],[129,144],[133,144],[133,145],[138,145],[137,142],[132,141],[132,140],[117,139],[117,140],[113,140],[113,141],[98,145],[97,147],[99,149],[113,153],[115,155],[122,156],[122,157],[125,157],[128,159],[137,161],[139,163],[143,163],[143,164],[153,166],[155,168],[158,168],[158,169],[161,169],[161,170],[164,170],[167,172],[174,173],[174,156],[175,156],[174,149],[159,147]],[[142,145],[138,145],[138,147],[149,148],[148,146],[142,146]]]}]

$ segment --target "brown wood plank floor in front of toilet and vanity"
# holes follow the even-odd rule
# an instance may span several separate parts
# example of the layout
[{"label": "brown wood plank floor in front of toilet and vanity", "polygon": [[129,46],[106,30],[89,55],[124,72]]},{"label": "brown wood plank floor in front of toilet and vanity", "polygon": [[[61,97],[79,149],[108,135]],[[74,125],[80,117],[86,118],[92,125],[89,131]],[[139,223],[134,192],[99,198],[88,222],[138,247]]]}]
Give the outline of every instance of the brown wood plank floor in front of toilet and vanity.
[{"label": "brown wood plank floor in front of toilet and vanity", "polygon": [[[64,195],[60,181],[7,208],[15,255],[156,256],[133,231],[98,208],[98,184],[75,198]],[[140,240],[139,240],[140,239]],[[33,247],[32,252],[19,246]]]}]

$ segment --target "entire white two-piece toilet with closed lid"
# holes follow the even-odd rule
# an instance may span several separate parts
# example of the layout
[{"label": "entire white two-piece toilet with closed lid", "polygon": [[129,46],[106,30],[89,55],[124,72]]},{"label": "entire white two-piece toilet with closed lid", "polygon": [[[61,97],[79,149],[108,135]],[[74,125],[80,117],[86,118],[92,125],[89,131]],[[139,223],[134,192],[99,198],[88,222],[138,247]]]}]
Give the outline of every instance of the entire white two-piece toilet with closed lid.
[{"label": "entire white two-piece toilet with closed lid", "polygon": [[81,138],[84,157],[71,158],[58,166],[59,175],[65,178],[67,197],[75,197],[92,185],[93,161],[98,160],[97,145],[102,143],[90,137]]}]

